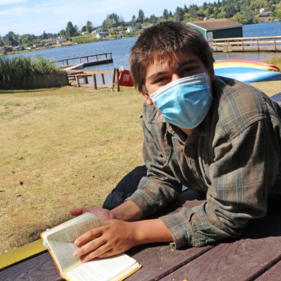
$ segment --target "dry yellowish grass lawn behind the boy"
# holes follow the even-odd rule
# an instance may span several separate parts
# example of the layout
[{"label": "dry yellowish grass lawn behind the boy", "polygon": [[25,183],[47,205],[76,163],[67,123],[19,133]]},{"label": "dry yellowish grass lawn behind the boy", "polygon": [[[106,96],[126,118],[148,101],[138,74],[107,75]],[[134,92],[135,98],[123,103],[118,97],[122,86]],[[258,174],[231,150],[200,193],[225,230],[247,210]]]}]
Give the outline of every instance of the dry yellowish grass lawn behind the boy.
[{"label": "dry yellowish grass lawn behind the boy", "polygon": [[[281,91],[281,81],[252,85]],[[72,207],[101,206],[143,164],[142,103],[131,88],[0,91],[0,254],[37,240]]]}]

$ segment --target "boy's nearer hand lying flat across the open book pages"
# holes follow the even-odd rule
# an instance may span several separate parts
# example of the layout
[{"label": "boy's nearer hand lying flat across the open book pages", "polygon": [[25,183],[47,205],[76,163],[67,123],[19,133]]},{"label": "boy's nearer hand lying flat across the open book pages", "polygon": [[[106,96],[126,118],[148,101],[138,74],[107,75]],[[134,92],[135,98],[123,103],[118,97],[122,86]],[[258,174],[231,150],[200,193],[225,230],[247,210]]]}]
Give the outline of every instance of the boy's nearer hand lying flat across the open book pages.
[{"label": "boy's nearer hand lying flat across the open book pages", "polygon": [[86,262],[121,254],[139,244],[135,225],[136,223],[110,219],[105,222],[105,226],[93,228],[78,237],[74,244],[79,249],[74,250],[73,256]]}]

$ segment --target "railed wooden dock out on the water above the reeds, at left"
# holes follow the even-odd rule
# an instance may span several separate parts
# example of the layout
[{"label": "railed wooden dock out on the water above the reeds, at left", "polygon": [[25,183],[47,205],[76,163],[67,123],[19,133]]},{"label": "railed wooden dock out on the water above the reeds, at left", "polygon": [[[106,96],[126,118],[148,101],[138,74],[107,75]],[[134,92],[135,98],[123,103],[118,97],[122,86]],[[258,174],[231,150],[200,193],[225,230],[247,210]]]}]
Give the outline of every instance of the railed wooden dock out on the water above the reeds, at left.
[{"label": "railed wooden dock out on the water above the reeds, at left", "polygon": [[105,63],[112,63],[112,53],[98,53],[96,55],[84,55],[77,58],[65,58],[63,60],[55,60],[58,66],[68,69],[78,69],[92,65],[103,65]]}]

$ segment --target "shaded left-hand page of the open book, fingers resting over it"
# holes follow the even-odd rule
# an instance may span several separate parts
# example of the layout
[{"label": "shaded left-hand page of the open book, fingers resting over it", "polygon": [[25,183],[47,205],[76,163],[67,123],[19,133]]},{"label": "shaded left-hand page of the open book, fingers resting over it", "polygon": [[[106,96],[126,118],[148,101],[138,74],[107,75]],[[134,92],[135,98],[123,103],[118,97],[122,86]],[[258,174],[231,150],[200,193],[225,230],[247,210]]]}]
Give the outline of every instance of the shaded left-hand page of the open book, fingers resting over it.
[{"label": "shaded left-hand page of the open book, fingers resting over it", "polygon": [[81,263],[79,259],[73,257],[73,250],[78,248],[74,244],[77,237],[99,226],[103,226],[103,218],[91,216],[91,221],[77,223],[73,226],[67,222],[67,228],[63,229],[62,225],[60,230],[46,233],[44,239],[47,241],[48,247],[51,249],[62,273],[65,274],[68,270]]}]

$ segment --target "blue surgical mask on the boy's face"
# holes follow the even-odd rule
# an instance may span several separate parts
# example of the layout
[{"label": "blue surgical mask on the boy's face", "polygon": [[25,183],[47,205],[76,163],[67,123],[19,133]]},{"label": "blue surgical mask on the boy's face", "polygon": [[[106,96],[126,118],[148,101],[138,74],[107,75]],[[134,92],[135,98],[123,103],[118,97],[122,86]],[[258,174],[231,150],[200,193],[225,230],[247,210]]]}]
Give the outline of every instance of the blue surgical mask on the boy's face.
[{"label": "blue surgical mask on the boy's face", "polygon": [[150,98],[165,122],[185,129],[193,129],[203,121],[212,100],[206,73],[172,81]]}]

